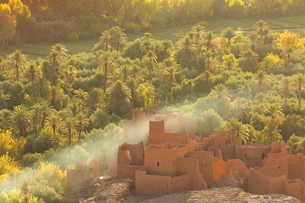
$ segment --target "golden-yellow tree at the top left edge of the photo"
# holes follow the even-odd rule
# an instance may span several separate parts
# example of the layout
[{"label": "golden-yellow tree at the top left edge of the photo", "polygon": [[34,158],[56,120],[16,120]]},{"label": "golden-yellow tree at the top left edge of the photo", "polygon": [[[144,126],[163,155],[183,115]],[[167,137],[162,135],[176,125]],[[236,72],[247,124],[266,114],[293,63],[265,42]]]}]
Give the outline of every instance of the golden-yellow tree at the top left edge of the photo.
[{"label": "golden-yellow tree at the top left edge of the photo", "polygon": [[2,46],[12,40],[16,33],[16,17],[8,4],[0,4],[0,41]]}]

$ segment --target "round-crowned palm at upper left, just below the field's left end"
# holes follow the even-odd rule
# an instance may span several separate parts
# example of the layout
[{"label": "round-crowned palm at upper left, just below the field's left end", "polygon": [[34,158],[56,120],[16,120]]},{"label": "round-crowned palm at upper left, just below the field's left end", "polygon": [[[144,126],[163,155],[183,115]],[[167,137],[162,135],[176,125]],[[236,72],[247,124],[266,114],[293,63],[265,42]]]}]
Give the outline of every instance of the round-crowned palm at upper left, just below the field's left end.
[{"label": "round-crowned palm at upper left, just below the field's left end", "polygon": [[7,56],[6,64],[7,70],[13,74],[13,77],[16,75],[16,80],[19,80],[21,72],[27,67],[28,62],[26,56],[21,52],[21,49],[16,49]]}]

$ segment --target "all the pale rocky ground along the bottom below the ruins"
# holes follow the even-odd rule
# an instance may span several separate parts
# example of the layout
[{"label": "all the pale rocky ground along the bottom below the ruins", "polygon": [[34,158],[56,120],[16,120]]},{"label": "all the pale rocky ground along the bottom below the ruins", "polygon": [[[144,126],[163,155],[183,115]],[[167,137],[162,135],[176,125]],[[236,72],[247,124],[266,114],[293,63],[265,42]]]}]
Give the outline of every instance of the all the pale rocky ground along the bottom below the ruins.
[{"label": "all the pale rocky ground along the bottom below the ruins", "polygon": [[[82,187],[74,187],[65,203],[217,203],[217,202],[260,202],[260,203],[300,203],[299,200],[285,195],[254,195],[239,188],[220,187],[207,190],[193,190],[178,194],[165,195],[159,198],[135,195],[135,181],[132,178],[114,180],[104,176],[89,181]],[[77,199],[77,200],[76,200]]]}]

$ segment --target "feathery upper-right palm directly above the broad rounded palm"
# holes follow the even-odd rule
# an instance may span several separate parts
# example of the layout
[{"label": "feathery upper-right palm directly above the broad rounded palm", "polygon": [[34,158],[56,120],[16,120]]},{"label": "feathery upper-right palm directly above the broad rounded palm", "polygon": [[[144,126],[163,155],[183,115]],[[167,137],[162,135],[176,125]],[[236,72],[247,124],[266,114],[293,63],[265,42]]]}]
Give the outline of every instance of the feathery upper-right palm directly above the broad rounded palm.
[{"label": "feathery upper-right palm directly above the broad rounded palm", "polygon": [[253,52],[257,53],[258,56],[263,54],[263,42],[260,41],[257,32],[251,31],[247,34],[245,44],[242,48],[243,51],[251,49]]}]

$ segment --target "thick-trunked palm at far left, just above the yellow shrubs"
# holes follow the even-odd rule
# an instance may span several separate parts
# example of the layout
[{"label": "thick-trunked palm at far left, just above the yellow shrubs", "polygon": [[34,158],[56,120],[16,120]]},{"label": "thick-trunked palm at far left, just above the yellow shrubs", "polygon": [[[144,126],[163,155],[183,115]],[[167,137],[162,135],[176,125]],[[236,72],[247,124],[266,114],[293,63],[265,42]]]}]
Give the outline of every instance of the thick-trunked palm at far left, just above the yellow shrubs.
[{"label": "thick-trunked palm at far left, just above the yellow shrubs", "polygon": [[20,136],[27,136],[27,126],[29,124],[30,110],[24,105],[18,106],[9,117],[9,121],[16,125]]}]

